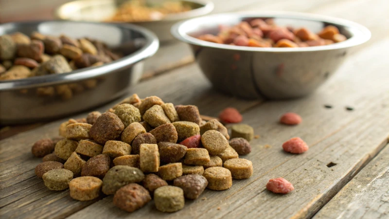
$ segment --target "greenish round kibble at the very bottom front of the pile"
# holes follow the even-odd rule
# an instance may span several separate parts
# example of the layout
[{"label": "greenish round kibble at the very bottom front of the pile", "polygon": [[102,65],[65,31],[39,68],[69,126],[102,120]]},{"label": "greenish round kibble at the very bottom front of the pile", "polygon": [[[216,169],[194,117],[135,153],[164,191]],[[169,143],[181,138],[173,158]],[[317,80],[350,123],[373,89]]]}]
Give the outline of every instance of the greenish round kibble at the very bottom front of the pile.
[{"label": "greenish round kibble at the very bottom front of the pile", "polygon": [[154,191],[154,202],[161,212],[175,212],[184,208],[184,191],[177,187],[166,185]]}]

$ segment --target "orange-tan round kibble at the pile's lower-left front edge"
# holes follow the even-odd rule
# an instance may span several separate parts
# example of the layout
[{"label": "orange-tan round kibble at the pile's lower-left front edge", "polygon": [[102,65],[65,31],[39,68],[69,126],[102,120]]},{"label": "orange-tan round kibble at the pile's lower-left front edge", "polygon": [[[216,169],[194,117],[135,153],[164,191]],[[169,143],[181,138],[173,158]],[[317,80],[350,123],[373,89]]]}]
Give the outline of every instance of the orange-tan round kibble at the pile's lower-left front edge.
[{"label": "orange-tan round kibble at the pile's lower-left front edge", "polygon": [[91,176],[72,179],[69,183],[70,197],[78,201],[89,201],[100,196],[103,181]]}]

